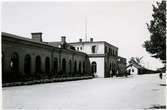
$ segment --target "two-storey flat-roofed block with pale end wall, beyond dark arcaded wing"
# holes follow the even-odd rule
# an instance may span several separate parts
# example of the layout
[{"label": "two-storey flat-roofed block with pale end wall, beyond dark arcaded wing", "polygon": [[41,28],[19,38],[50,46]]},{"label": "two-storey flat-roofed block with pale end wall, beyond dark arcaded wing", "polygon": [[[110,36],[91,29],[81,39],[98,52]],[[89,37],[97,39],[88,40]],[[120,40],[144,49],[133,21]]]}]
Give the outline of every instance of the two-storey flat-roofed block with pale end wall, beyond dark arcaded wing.
[{"label": "two-storey flat-roofed block with pale end wall, beyond dark arcaded wing", "polygon": [[93,41],[93,38],[90,38],[90,41],[83,42],[80,39],[79,42],[70,45],[73,45],[77,51],[88,54],[94,76],[112,77],[121,71],[119,66],[126,67],[126,59],[118,56],[118,47],[105,41]]}]

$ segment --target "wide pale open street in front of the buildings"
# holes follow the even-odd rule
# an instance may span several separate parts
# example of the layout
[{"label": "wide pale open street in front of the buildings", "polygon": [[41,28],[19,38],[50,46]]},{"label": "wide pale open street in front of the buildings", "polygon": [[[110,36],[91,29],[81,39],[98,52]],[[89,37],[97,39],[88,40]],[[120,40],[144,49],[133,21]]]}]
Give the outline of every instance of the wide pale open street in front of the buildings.
[{"label": "wide pale open street in front of the buildings", "polygon": [[4,87],[5,109],[149,109],[165,106],[158,74]]}]

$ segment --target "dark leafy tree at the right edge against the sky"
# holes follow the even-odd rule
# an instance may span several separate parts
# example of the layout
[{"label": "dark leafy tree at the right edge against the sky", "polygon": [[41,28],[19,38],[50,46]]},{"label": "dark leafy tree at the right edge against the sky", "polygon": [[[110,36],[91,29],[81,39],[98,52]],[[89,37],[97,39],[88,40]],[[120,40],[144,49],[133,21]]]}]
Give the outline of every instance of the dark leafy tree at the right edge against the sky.
[{"label": "dark leafy tree at the right edge against the sky", "polygon": [[144,42],[144,48],[166,64],[166,1],[153,5],[153,19],[147,28],[150,32],[150,40]]}]

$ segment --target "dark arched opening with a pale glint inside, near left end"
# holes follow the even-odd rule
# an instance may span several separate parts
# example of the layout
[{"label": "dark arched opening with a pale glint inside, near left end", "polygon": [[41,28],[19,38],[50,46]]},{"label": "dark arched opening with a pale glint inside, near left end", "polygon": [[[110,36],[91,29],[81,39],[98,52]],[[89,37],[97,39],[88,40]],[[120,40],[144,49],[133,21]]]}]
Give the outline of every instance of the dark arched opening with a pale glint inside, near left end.
[{"label": "dark arched opening with a pale glint inside, near left end", "polygon": [[19,56],[17,53],[14,53],[11,56],[10,68],[11,68],[11,73],[13,74],[19,73]]}]

